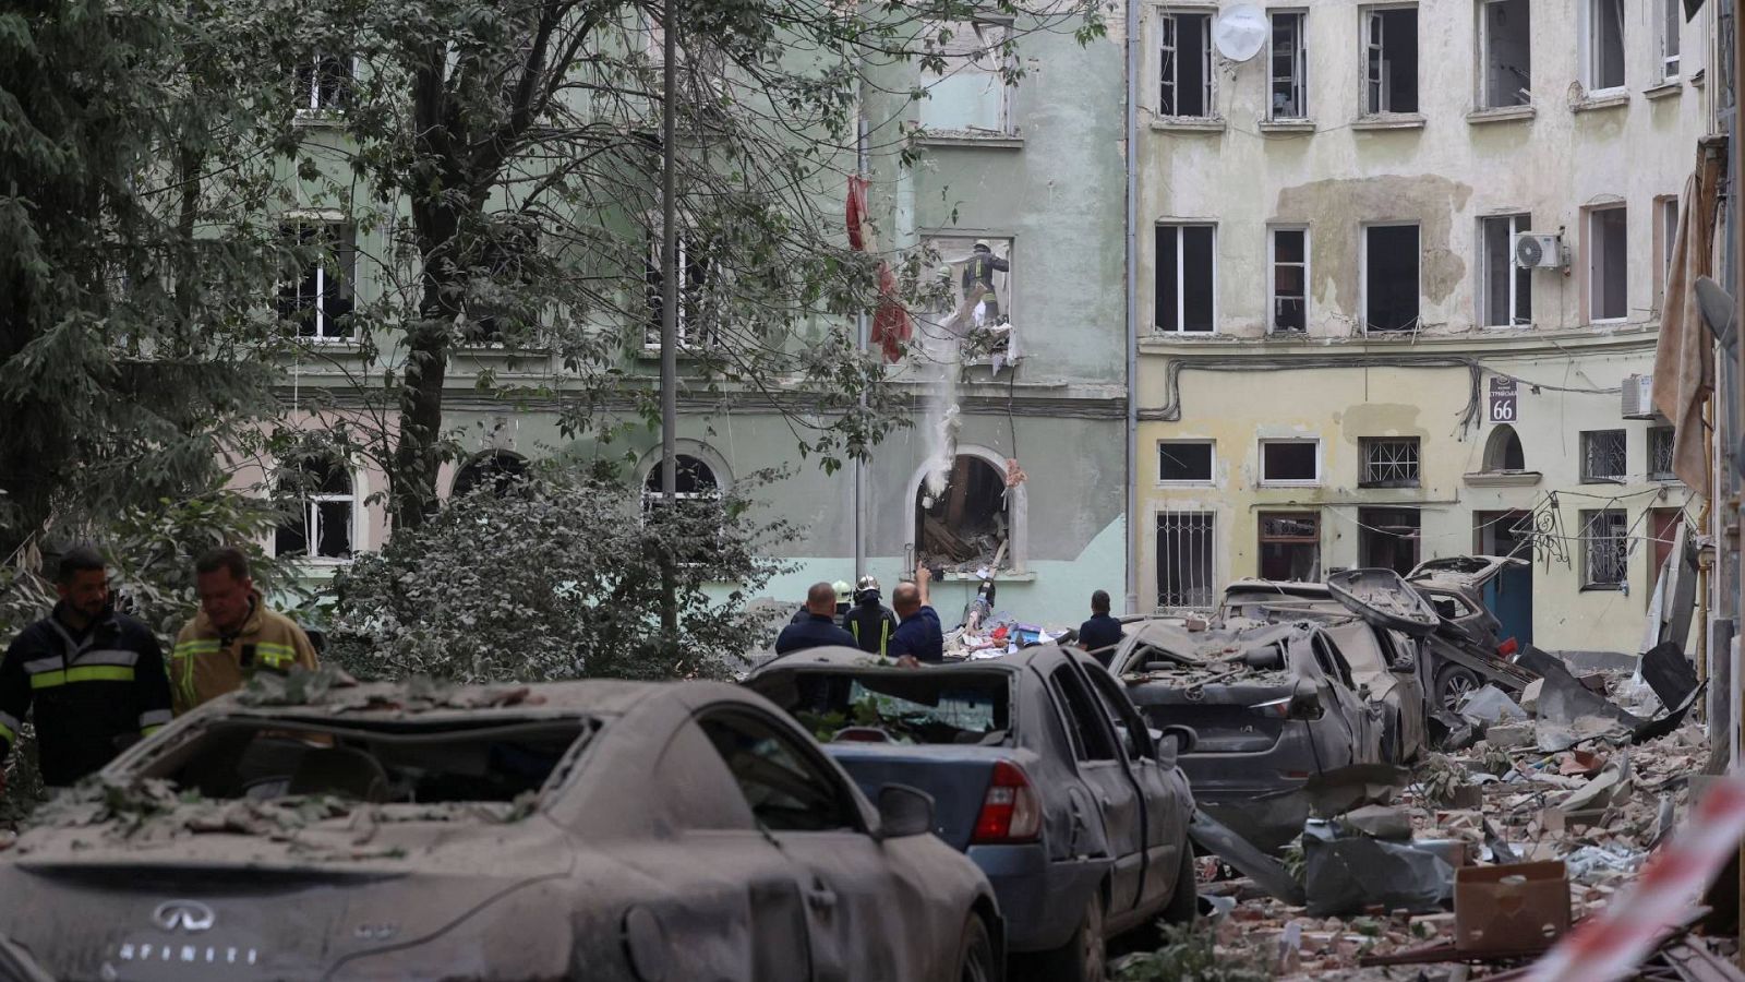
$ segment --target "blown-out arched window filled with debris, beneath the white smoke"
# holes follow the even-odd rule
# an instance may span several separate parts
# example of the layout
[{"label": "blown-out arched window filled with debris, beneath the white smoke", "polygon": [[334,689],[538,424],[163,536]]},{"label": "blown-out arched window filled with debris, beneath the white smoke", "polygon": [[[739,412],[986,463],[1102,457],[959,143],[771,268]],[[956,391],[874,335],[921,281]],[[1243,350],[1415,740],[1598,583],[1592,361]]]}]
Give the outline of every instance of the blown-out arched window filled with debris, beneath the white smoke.
[{"label": "blown-out arched window filled with debris, beneath the white smoke", "polygon": [[914,501],[916,559],[951,570],[1010,570],[1012,508],[1005,474],[979,456],[960,454],[939,494],[927,482]]}]

